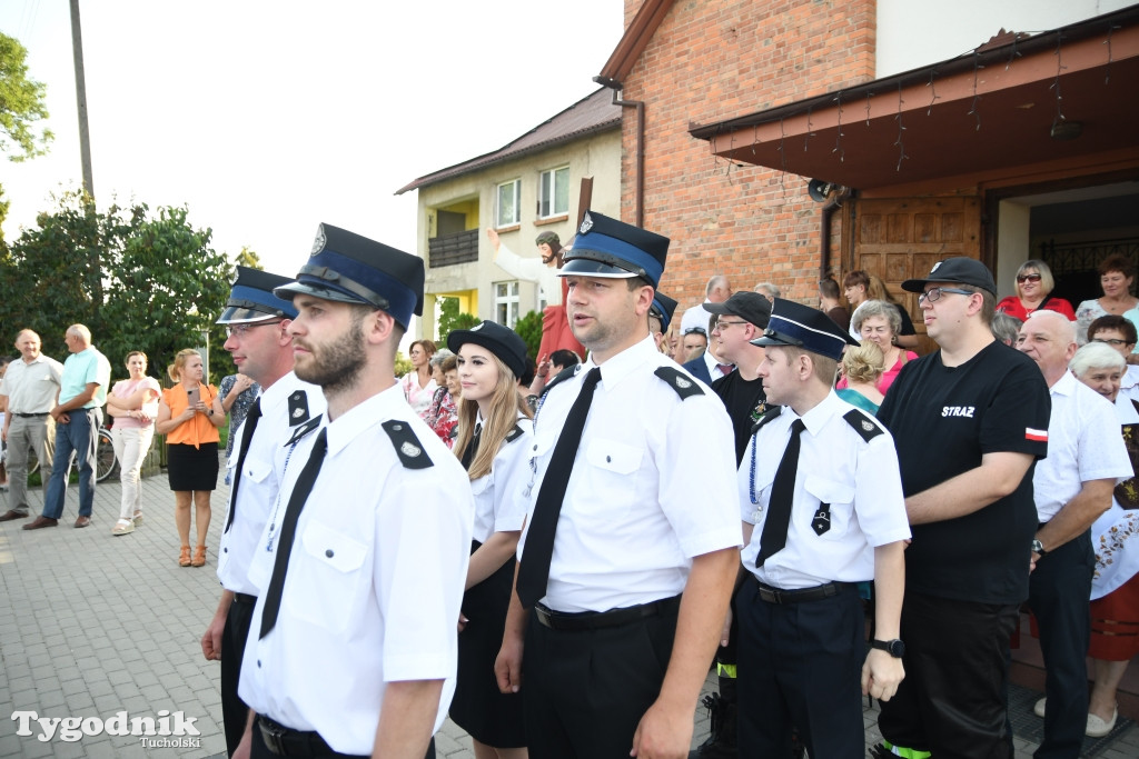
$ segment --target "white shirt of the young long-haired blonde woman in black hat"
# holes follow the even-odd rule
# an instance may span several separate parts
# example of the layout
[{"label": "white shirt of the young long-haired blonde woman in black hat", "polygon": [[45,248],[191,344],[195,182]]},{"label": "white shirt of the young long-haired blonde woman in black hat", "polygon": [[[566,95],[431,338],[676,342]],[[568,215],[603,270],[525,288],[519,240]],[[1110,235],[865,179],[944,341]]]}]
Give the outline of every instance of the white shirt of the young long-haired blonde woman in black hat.
[{"label": "white shirt of the young long-haired blonde woman in black hat", "polygon": [[[482,423],[480,415],[476,420]],[[521,430],[513,440],[503,440],[494,454],[491,473],[472,480],[470,490],[475,496],[474,539],[486,543],[494,533],[510,533],[522,529],[526,519],[526,484],[530,480],[530,449],[533,446],[533,424],[519,416]]]}]

